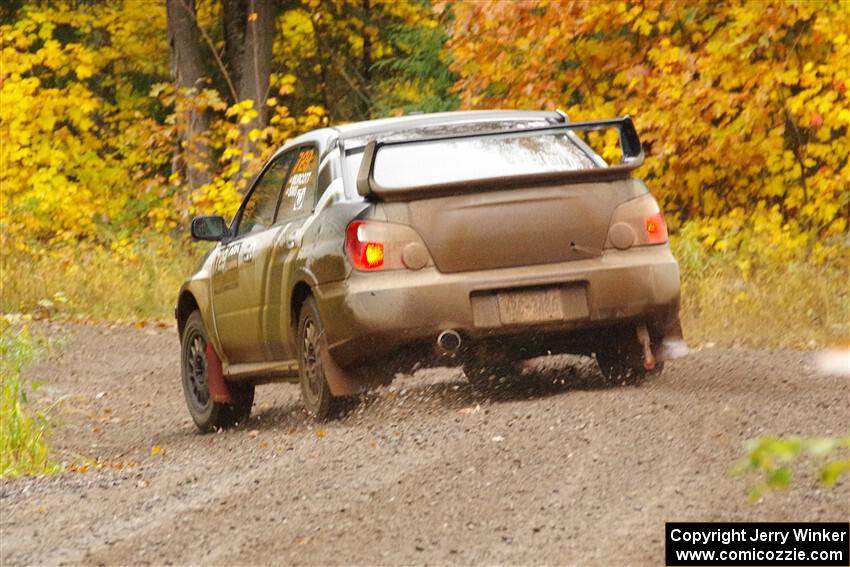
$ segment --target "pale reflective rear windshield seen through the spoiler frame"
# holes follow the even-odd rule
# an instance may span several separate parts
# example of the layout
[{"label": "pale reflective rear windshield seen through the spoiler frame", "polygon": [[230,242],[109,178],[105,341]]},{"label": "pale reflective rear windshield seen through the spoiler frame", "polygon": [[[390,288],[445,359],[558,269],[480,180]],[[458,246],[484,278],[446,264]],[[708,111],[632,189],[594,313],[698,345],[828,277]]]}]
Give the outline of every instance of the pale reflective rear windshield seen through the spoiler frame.
[{"label": "pale reflective rear windshield seen through the spoiler frame", "polygon": [[560,130],[381,146],[373,176],[390,189],[594,167],[605,162],[574,134]]}]

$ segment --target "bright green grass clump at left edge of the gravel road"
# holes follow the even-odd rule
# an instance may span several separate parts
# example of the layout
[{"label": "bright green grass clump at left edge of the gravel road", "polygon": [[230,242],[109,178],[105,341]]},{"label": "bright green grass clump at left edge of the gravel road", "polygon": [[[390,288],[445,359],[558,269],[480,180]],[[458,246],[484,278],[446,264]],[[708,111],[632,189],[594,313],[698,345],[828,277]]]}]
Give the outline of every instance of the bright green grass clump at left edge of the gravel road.
[{"label": "bright green grass clump at left edge of the gravel road", "polygon": [[23,368],[39,352],[27,327],[14,329],[0,319],[0,476],[58,472],[45,435],[47,417],[27,402],[33,389],[22,378]]}]

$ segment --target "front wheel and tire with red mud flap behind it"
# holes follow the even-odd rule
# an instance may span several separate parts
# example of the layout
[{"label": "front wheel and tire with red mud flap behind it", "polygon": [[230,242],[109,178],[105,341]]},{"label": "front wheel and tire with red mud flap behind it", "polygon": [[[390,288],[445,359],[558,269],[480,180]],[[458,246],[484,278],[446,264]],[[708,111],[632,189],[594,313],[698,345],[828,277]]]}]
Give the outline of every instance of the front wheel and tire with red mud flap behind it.
[{"label": "front wheel and tire with red mud flap behind it", "polygon": [[229,384],[231,404],[213,401],[207,381],[207,342],[201,313],[193,311],[181,338],[183,395],[192,421],[204,433],[244,423],[254,405],[253,384]]}]

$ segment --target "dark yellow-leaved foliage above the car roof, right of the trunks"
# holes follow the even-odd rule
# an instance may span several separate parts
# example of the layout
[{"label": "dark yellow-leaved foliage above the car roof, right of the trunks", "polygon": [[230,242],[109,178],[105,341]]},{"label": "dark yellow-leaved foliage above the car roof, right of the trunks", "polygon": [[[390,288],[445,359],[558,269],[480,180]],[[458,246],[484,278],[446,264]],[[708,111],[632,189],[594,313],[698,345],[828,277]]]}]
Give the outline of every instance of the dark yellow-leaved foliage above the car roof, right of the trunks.
[{"label": "dark yellow-leaved foliage above the car roof, right of the trunks", "polygon": [[[321,105],[331,122],[364,120],[389,112],[392,109],[386,103],[396,86],[390,80],[403,71],[387,67],[385,62],[416,51],[417,47],[405,45],[404,39],[437,25],[425,2],[293,3],[279,20],[286,41],[277,42],[274,48],[286,104],[296,113]],[[407,36],[405,32],[409,32]],[[439,39],[429,45],[428,56],[437,66],[441,47]],[[427,82],[423,78],[422,83]],[[421,94],[415,93],[409,102],[422,101],[428,95]]]}]

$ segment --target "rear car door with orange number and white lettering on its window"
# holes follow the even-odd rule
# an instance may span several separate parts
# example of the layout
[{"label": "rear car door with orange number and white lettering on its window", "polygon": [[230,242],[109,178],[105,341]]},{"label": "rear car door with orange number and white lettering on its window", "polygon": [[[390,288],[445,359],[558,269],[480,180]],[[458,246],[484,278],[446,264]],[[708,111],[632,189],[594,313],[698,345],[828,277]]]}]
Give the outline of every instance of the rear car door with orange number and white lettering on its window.
[{"label": "rear car door with orange number and white lettering on its window", "polygon": [[296,357],[290,339],[290,298],[293,272],[298,258],[301,229],[308,222],[316,204],[318,183],[318,151],[312,144],[300,146],[295,152],[294,165],[286,179],[278,208],[277,234],[272,253],[263,329],[272,360],[292,360]]}]

